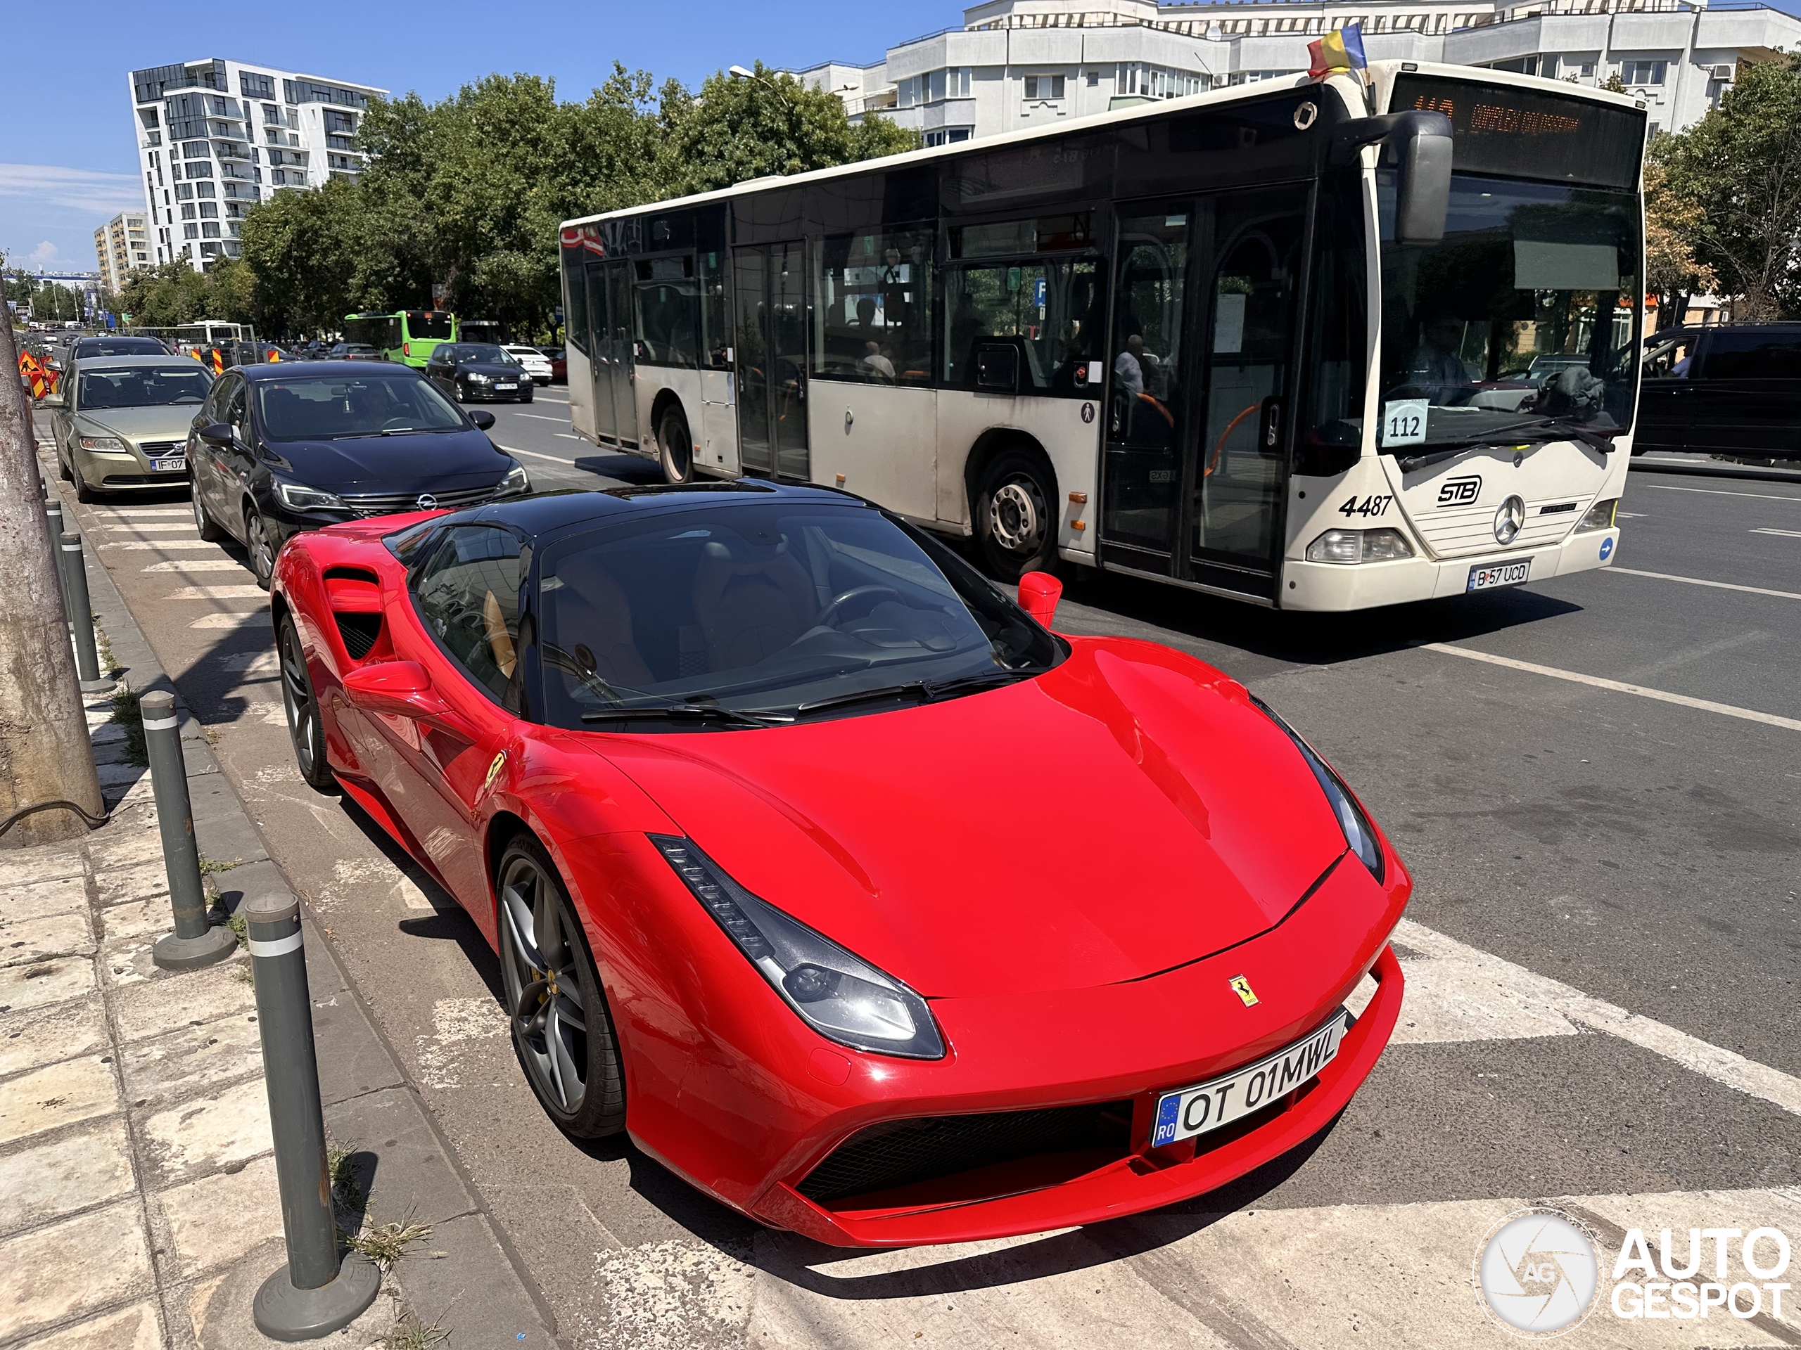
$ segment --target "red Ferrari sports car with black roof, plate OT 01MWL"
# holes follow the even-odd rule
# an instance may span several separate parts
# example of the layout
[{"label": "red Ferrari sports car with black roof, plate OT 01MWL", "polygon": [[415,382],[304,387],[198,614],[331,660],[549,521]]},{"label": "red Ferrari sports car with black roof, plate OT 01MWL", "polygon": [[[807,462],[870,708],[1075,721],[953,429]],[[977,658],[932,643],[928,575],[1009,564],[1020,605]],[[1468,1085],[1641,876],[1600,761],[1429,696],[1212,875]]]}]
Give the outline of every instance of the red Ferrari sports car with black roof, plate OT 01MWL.
[{"label": "red Ferrari sports car with black roof, plate OT 01MWL", "polygon": [[708,482],[297,535],[272,598],[301,772],[499,950],[551,1118],[897,1246],[1243,1175],[1401,1004],[1412,880],[1333,769],[1019,590],[859,499]]}]

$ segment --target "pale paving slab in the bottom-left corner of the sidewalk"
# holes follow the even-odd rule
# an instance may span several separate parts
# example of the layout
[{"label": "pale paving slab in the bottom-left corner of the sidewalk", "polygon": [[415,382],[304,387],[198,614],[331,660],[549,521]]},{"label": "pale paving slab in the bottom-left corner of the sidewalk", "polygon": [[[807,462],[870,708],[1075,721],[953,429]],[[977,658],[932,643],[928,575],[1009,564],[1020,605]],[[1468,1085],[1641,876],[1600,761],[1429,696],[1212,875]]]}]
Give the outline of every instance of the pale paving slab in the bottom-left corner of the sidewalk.
[{"label": "pale paving slab in the bottom-left corner of the sidewalk", "polygon": [[137,1197],[0,1240],[0,1345],[153,1287]]}]

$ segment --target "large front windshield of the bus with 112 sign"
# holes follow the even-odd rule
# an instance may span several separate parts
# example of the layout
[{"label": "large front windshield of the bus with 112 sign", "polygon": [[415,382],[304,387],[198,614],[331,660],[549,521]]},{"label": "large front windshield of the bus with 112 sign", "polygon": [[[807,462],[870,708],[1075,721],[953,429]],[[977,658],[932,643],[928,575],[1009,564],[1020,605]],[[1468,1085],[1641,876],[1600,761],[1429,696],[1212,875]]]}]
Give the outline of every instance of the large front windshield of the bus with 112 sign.
[{"label": "large front windshield of the bus with 112 sign", "polygon": [[1425,247],[1394,239],[1392,176],[1378,200],[1385,452],[1630,425],[1632,193],[1457,173],[1444,238]]}]

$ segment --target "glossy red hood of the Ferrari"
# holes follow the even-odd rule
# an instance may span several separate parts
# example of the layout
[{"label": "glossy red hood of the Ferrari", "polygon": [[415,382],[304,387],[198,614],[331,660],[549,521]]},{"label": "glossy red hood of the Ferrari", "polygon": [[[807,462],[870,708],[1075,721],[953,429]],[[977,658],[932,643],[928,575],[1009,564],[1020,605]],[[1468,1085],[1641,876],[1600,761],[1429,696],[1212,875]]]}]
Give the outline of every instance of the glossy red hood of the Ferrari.
[{"label": "glossy red hood of the Ferrari", "polygon": [[1345,851],[1243,686],[1149,643],[1077,639],[942,704],[582,740],[755,895],[928,997],[1169,970],[1279,923]]}]

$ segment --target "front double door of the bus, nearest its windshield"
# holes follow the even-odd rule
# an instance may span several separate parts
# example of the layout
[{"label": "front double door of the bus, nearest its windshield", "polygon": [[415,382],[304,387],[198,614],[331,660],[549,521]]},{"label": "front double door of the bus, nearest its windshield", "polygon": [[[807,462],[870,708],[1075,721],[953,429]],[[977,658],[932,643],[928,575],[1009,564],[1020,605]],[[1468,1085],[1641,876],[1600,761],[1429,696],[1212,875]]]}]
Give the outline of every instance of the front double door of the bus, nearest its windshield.
[{"label": "front double door of the bus, nearest its windshield", "polygon": [[1122,205],[1102,560],[1263,599],[1309,185]]}]

